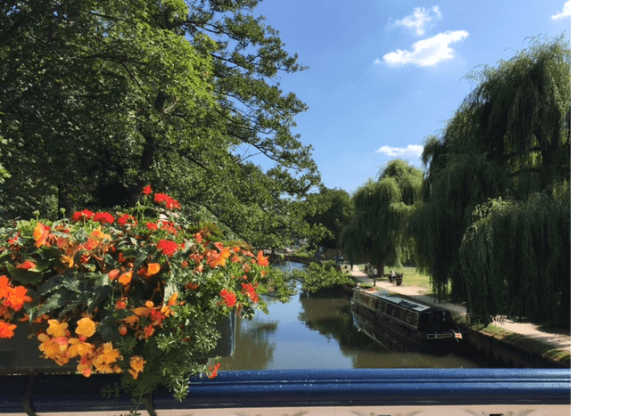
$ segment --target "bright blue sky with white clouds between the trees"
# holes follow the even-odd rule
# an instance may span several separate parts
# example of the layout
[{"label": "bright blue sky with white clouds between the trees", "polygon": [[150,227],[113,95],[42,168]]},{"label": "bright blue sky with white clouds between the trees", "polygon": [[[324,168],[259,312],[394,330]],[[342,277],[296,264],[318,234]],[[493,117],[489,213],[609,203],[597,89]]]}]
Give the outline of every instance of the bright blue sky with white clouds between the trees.
[{"label": "bright blue sky with white clouds between the trees", "polygon": [[472,89],[467,73],[572,31],[565,0],[263,0],[255,13],[309,67],[279,79],[309,107],[293,133],[322,182],[350,193],[391,159],[422,167],[425,138]]}]

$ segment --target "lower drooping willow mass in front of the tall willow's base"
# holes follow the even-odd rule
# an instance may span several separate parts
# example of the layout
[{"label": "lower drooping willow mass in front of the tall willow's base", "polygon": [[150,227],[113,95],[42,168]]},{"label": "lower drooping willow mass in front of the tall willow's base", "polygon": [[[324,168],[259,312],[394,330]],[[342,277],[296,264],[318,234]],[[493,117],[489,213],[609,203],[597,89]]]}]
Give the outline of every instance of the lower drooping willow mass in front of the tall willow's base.
[{"label": "lower drooping willow mass in front of the tall willow's base", "polygon": [[534,192],[527,200],[490,200],[475,209],[460,262],[470,294],[468,314],[569,323],[571,187]]}]

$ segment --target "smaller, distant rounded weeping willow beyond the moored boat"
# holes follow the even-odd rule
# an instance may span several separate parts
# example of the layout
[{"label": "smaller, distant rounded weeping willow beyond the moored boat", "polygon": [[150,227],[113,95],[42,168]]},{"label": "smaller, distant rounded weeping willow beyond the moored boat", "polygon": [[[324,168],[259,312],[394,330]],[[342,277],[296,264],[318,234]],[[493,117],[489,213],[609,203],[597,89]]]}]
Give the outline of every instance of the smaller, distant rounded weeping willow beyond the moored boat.
[{"label": "smaller, distant rounded weeping willow beyond the moored boat", "polygon": [[423,174],[395,159],[377,182],[368,181],[352,197],[350,224],[340,235],[340,246],[352,259],[366,258],[383,274],[384,265],[399,267],[411,257],[408,222],[419,200]]}]

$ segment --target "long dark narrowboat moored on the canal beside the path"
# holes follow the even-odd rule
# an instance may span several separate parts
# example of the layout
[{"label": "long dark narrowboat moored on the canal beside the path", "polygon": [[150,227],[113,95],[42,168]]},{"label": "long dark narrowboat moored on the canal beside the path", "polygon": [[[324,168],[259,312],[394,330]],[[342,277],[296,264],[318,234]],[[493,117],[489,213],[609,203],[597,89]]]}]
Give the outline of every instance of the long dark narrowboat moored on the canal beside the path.
[{"label": "long dark narrowboat moored on the canal beside the path", "polygon": [[385,290],[354,288],[350,310],[359,330],[391,350],[448,354],[462,339],[447,309]]}]

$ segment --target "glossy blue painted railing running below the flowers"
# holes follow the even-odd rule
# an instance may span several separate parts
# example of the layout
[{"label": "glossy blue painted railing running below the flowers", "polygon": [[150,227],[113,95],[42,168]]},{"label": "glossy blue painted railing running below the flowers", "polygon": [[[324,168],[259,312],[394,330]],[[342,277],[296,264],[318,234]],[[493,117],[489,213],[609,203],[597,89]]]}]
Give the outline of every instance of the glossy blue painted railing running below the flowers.
[{"label": "glossy blue painted railing running below the flowers", "polygon": [[[128,396],[106,399],[108,375],[0,377],[0,413],[128,411]],[[387,369],[224,371],[193,380],[177,402],[157,391],[156,409],[319,406],[571,405],[569,369]],[[141,409],[144,410],[144,409]]]}]

